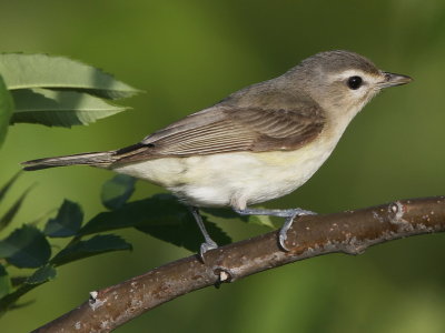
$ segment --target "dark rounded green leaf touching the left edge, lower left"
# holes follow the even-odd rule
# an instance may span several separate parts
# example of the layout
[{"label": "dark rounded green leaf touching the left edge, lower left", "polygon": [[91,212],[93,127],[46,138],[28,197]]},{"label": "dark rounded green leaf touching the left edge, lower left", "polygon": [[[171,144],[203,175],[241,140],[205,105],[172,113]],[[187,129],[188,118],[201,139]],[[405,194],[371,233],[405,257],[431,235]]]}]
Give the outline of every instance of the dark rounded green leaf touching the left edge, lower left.
[{"label": "dark rounded green leaf touching the left edge, lower left", "polygon": [[36,226],[24,224],[0,241],[0,258],[17,268],[37,269],[51,256],[44,234]]}]

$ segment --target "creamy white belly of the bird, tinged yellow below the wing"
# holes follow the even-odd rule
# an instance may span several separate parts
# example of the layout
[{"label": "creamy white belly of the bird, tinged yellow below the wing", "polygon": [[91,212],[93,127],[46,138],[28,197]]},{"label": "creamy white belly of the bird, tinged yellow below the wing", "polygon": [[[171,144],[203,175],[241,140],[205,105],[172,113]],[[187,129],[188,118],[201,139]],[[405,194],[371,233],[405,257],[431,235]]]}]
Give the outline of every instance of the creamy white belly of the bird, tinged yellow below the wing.
[{"label": "creamy white belly of the bird, tinged yellow below the wing", "polygon": [[243,209],[296,190],[330,152],[315,143],[296,151],[165,158],[113,170],[165,186],[192,205]]}]

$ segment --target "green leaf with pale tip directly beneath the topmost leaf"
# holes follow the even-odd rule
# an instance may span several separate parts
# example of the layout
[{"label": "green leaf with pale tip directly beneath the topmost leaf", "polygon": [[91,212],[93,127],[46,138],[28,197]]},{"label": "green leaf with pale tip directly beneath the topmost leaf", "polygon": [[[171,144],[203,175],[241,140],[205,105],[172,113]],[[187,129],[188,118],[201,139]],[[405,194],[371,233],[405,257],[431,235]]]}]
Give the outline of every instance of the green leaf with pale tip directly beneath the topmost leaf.
[{"label": "green leaf with pale tip directly beneath the topmost leaf", "polygon": [[21,89],[12,91],[16,110],[11,123],[70,128],[89,124],[127,108],[76,91]]}]

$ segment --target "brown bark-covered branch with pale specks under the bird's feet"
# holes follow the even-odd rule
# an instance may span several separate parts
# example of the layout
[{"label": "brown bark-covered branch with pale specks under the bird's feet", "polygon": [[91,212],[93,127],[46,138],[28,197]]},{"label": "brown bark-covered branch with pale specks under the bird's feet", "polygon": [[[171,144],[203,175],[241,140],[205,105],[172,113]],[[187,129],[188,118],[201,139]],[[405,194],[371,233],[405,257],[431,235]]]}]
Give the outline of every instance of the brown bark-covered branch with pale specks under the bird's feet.
[{"label": "brown bark-covered branch with pale specks under the bird's feet", "polygon": [[298,218],[284,252],[277,232],[188,256],[117,285],[34,332],[109,332],[141,313],[191,291],[316,255],[359,254],[366,248],[416,234],[445,231],[445,196],[396,201],[357,211]]}]

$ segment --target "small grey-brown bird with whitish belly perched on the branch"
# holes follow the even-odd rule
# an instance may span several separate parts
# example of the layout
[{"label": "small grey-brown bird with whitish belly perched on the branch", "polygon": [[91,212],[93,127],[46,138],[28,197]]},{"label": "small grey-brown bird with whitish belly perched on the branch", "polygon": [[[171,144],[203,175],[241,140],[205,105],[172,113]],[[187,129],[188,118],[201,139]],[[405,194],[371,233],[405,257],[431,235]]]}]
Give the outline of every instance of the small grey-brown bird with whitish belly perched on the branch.
[{"label": "small grey-brown bird with whitish belly perched on the branch", "polygon": [[198,208],[286,218],[279,244],[301,209],[250,209],[303,185],[326,161],[346,127],[383,88],[411,82],[349,51],[303,60],[283,75],[241,89],[219,103],[118,150],[23,162],[24,170],[85,164],[167,188],[191,210],[205,242],[217,244]]}]

